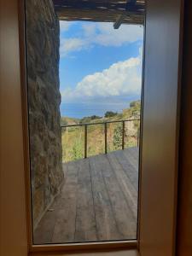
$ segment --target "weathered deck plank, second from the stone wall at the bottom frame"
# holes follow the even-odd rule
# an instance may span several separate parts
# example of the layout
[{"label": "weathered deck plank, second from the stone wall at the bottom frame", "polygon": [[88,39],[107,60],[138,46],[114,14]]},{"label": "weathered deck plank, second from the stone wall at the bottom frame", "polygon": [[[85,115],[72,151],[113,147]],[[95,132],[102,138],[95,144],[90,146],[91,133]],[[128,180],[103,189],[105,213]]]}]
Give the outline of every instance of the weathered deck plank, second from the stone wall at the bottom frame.
[{"label": "weathered deck plank, second from the stone wall at the bottom frame", "polygon": [[67,180],[61,191],[61,200],[57,204],[57,218],[52,242],[73,242],[75,236],[76,203],[79,166],[68,163]]}]

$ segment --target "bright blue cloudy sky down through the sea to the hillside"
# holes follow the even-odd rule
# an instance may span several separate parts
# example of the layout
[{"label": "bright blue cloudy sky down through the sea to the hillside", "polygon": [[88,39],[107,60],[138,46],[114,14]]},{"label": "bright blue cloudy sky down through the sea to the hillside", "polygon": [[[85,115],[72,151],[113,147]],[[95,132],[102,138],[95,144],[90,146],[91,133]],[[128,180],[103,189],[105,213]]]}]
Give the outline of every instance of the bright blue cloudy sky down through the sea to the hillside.
[{"label": "bright blue cloudy sky down through the sea to the hillside", "polygon": [[61,115],[120,112],[140,99],[143,26],[60,21]]}]

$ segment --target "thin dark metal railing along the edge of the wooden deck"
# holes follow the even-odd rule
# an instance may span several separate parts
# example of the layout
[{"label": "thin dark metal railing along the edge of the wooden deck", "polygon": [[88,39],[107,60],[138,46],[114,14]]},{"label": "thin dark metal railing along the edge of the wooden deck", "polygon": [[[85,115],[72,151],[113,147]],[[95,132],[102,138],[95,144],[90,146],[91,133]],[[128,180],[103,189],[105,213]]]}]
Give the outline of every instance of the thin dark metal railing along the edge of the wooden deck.
[{"label": "thin dark metal railing along the edge of the wooden deck", "polygon": [[[105,147],[105,154],[108,154],[108,124],[112,123],[121,123],[122,124],[122,143],[121,148],[124,150],[125,148],[125,122],[132,122],[132,121],[140,121],[140,119],[124,119],[124,120],[115,120],[115,121],[106,121],[106,122],[96,122],[96,123],[87,123],[87,124],[78,124],[78,125],[61,125],[62,129],[67,129],[69,127],[78,127],[84,126],[84,158],[87,158],[87,133],[88,133],[88,126],[89,125],[104,125],[104,147]],[[138,130],[139,131],[139,130]],[[139,134],[137,133],[137,147],[139,145]]]}]

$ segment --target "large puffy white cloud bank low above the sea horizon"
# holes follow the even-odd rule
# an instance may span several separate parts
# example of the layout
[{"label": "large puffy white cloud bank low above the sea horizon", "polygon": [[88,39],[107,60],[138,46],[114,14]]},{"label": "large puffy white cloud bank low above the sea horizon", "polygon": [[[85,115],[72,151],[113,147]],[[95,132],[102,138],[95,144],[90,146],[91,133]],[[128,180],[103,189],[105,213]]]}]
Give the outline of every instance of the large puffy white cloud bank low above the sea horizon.
[{"label": "large puffy white cloud bank low above the sea horizon", "polygon": [[77,86],[61,92],[62,102],[87,102],[96,99],[136,96],[142,86],[142,55],[114,63],[102,72],[87,75]]}]

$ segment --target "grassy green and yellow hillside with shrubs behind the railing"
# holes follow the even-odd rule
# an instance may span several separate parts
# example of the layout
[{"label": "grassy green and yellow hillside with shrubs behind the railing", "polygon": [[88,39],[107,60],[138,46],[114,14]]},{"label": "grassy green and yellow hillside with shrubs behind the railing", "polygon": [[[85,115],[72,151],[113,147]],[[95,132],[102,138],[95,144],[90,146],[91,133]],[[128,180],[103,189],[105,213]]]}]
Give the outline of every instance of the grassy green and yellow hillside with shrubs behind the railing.
[{"label": "grassy green and yellow hillside with shrubs behind the railing", "polygon": [[[73,119],[62,117],[61,125],[96,124],[107,121],[123,119],[140,119],[141,102],[131,102],[130,108],[125,108],[122,113],[110,114],[99,117],[96,115]],[[112,112],[113,113],[113,112]],[[137,146],[139,134],[139,121],[125,122],[125,148]],[[122,147],[122,123],[109,123],[108,129],[108,152],[121,149]],[[88,156],[104,153],[104,125],[87,126],[87,151]],[[63,162],[84,158],[84,125],[62,128],[62,159]]]}]

